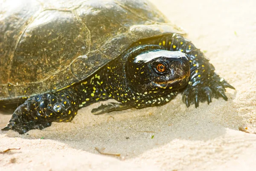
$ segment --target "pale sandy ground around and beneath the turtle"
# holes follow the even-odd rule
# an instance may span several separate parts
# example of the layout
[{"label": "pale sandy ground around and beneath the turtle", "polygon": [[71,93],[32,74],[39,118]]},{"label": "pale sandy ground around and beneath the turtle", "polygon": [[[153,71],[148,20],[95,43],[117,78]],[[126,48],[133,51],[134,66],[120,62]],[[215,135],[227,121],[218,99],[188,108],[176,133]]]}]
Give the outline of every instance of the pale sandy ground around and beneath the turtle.
[{"label": "pale sandy ground around and beneath the turtle", "polygon": [[[0,132],[0,170],[251,171],[256,167],[256,1],[152,0],[201,48],[236,90],[228,101],[186,108],[181,95],[162,107],[93,116],[20,136]],[[0,114],[3,127],[10,115]],[[154,137],[153,137],[154,135]],[[44,138],[44,139],[41,139]],[[99,154],[120,154],[111,157]]]}]

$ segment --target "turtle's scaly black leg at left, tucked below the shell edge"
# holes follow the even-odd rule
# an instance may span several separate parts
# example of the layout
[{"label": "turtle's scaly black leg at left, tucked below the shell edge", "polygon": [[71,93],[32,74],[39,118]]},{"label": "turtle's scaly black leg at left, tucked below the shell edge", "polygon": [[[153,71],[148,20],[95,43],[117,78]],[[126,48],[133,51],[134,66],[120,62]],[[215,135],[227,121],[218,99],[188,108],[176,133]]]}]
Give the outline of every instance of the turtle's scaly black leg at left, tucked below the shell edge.
[{"label": "turtle's scaly black leg at left, tucked below the shell edge", "polygon": [[12,115],[2,130],[15,130],[20,134],[32,129],[44,129],[51,122],[69,122],[76,116],[79,97],[76,89],[67,88],[27,99]]}]

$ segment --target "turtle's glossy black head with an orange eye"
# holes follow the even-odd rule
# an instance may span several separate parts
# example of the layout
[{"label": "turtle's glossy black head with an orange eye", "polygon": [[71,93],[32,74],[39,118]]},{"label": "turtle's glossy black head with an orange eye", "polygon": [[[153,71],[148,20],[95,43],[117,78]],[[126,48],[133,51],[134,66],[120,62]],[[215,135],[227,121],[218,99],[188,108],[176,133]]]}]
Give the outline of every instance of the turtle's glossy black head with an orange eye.
[{"label": "turtle's glossy black head with an orange eye", "polygon": [[126,75],[131,86],[139,93],[178,90],[189,81],[190,67],[186,54],[160,47],[138,46],[130,52]]}]

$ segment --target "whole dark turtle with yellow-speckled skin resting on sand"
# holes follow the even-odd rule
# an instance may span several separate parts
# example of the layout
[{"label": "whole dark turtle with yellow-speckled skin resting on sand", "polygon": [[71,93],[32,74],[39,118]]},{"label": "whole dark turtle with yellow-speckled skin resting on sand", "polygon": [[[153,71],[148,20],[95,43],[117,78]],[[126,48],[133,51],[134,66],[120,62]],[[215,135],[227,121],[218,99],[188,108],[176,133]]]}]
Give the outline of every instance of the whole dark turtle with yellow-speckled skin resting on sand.
[{"label": "whole dark turtle with yellow-speckled skin resting on sand", "polygon": [[166,104],[227,101],[235,89],[204,53],[147,0],[2,0],[0,107],[14,108],[2,130],[20,134],[93,114]]}]

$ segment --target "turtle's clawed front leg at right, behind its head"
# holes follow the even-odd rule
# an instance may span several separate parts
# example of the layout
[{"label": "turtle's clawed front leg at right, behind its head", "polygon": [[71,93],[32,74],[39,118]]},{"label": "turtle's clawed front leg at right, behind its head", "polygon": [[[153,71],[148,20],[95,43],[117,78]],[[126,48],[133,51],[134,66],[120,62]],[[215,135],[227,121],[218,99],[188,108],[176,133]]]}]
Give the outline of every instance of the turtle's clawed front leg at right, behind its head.
[{"label": "turtle's clawed front leg at right, behind its head", "polygon": [[195,104],[195,107],[198,107],[199,101],[207,101],[209,104],[212,102],[212,97],[216,99],[222,97],[227,101],[225,88],[235,88],[214,72],[215,68],[205,58],[200,49],[197,49],[189,40],[177,34],[174,34],[169,41],[169,49],[184,52],[189,58],[191,75],[182,94],[183,102],[187,107],[190,104]]}]

